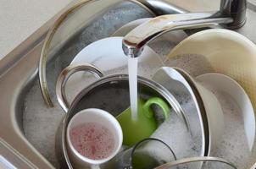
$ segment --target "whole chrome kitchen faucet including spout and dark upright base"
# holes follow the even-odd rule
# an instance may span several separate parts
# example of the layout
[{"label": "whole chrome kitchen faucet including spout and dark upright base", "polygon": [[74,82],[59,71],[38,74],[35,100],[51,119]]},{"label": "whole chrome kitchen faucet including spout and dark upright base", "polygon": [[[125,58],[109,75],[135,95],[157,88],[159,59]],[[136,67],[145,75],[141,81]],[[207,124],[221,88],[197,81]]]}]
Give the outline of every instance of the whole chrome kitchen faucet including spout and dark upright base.
[{"label": "whole chrome kitchen faucet including spout and dark upright base", "polygon": [[221,0],[220,10],[214,13],[164,14],[153,18],[123,39],[123,51],[128,57],[139,57],[143,46],[159,35],[171,30],[221,25],[227,29],[237,29],[246,22],[247,0]]}]

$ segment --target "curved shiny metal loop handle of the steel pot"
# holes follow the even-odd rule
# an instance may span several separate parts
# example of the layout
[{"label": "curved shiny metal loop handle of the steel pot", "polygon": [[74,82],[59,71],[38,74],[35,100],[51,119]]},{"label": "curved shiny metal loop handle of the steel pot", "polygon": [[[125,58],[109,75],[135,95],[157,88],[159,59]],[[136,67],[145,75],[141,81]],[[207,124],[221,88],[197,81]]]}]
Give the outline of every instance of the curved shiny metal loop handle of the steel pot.
[{"label": "curved shiny metal loop handle of the steel pot", "polygon": [[68,112],[70,107],[70,103],[67,101],[65,92],[66,83],[72,74],[75,74],[79,71],[90,72],[98,79],[103,77],[103,73],[98,68],[89,63],[75,63],[71,64],[67,68],[64,68],[63,71],[58,75],[56,83],[57,100],[59,105],[63,108],[64,112]]}]

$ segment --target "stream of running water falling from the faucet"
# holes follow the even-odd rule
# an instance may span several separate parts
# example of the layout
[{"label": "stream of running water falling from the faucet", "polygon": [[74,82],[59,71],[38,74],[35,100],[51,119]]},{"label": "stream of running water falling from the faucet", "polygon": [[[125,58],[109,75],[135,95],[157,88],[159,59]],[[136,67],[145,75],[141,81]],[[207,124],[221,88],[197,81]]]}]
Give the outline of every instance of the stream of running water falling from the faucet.
[{"label": "stream of running water falling from the faucet", "polygon": [[137,57],[128,58],[129,90],[131,102],[131,119],[137,119]]}]

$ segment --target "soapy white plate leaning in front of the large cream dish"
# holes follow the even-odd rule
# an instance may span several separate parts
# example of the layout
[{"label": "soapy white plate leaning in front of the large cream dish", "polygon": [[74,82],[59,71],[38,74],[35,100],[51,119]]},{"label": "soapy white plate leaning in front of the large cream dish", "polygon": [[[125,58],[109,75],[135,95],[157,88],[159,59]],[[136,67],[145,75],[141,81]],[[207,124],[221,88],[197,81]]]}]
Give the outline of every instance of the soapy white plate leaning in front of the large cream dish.
[{"label": "soapy white plate leaning in front of the large cream dish", "polygon": [[[219,140],[218,147],[212,151],[212,155],[225,158],[227,161],[234,163],[238,168],[247,169],[255,160],[255,151],[251,151],[254,142],[253,133],[255,130],[253,131],[253,119],[243,119],[244,114],[253,117],[252,109],[247,110],[249,112],[243,112],[249,105],[248,107],[243,107],[247,105],[247,103],[237,103],[237,101],[241,101],[242,96],[244,96],[239,91],[237,92],[237,90],[242,90],[236,89],[237,85],[233,83],[233,81],[230,81],[231,79],[224,78],[224,76],[219,74],[203,74],[201,78],[199,77],[198,79],[200,83],[211,90],[220,101],[224,114],[224,134]],[[236,93],[240,93],[240,96],[236,95]],[[244,121],[251,123],[252,128],[250,128],[247,123],[244,123]],[[216,125],[218,125],[218,123],[216,123]]]}]

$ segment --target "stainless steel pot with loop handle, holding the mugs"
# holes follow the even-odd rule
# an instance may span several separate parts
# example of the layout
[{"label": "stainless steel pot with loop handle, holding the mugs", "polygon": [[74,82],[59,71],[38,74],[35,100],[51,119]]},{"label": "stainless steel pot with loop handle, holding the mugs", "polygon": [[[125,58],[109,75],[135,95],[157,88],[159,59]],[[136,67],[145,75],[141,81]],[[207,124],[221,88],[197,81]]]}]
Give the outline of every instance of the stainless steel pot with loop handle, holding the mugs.
[{"label": "stainless steel pot with loop handle, holding the mugs", "polygon": [[[91,85],[88,85],[84,90],[76,95],[74,101],[72,101],[69,106],[64,92],[65,85],[70,76],[78,71],[91,72],[100,79]],[[61,159],[60,162],[62,165],[66,164],[65,166],[73,168],[65,139],[66,128],[70,118],[73,117],[75,113],[92,107],[111,112],[114,116],[123,112],[128,106],[130,106],[128,74],[114,74],[103,77],[103,73],[101,73],[98,68],[95,68],[90,64],[78,63],[70,65],[69,67],[64,68],[58,76],[56,94],[60,106],[62,106],[64,111],[67,112],[63,122],[60,123],[58,134],[56,136],[57,155],[60,155],[59,159]],[[162,85],[159,85],[150,79],[138,77],[138,95],[143,99],[147,99],[152,96],[161,97],[164,101],[170,104],[175,113],[181,117],[186,128],[188,128],[188,123],[186,122],[186,117],[184,116],[184,112],[180,104]]]}]

